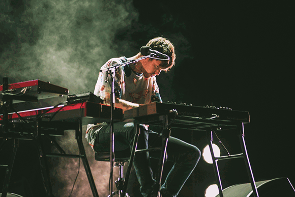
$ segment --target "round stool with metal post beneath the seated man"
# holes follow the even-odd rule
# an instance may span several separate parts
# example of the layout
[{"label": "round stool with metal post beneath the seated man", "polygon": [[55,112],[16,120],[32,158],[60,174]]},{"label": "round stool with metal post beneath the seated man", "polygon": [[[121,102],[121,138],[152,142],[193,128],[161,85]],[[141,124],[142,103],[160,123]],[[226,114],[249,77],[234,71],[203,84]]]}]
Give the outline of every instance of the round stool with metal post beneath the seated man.
[{"label": "round stool with metal post beneath the seated man", "polygon": [[[119,167],[119,178],[117,181],[115,181],[115,185],[117,190],[113,191],[112,194],[119,194],[119,197],[129,197],[129,195],[126,193],[125,196],[123,195],[123,189],[124,189],[124,183],[125,178],[123,177],[123,166],[125,162],[129,162],[130,159],[130,150],[126,149],[123,151],[115,151],[115,164],[114,167]],[[95,160],[97,161],[110,161],[110,152],[95,152]],[[108,195],[109,197],[110,195]]]}]

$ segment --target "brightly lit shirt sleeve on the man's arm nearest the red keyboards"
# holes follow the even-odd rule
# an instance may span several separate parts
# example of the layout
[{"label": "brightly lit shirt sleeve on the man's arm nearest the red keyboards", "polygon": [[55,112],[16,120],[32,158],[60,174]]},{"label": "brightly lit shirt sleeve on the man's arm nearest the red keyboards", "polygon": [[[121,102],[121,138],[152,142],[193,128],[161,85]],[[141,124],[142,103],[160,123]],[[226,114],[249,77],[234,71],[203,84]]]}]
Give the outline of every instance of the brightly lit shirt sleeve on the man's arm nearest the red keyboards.
[{"label": "brightly lit shirt sleeve on the man's arm nearest the red keyboards", "polygon": [[[102,66],[102,69],[112,66],[114,64],[121,64],[121,62],[114,59],[109,60]],[[111,77],[107,74],[108,71],[100,72],[98,75],[97,83],[95,85],[94,94],[100,99],[105,101],[106,93],[111,92]],[[106,80],[107,79],[107,80]],[[115,97],[121,99],[122,96],[122,68],[119,67],[115,70],[115,82],[114,82],[114,93]]]}]

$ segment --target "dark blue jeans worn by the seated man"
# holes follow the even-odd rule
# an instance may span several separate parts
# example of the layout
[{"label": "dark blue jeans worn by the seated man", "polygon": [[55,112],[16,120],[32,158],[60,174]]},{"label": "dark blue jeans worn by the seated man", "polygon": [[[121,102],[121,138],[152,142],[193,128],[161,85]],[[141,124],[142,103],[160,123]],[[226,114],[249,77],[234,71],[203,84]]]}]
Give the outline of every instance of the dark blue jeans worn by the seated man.
[{"label": "dark blue jeans worn by the seated man", "polygon": [[[162,137],[159,137],[158,133],[146,130],[143,126],[140,126],[140,131],[137,150],[162,147]],[[133,123],[120,122],[114,124],[114,151],[122,151],[128,148],[132,149],[133,138]],[[99,145],[95,147],[101,147],[102,149],[109,150],[109,125],[101,128],[96,136],[95,143]],[[133,161],[136,176],[140,184],[140,192],[144,197],[151,195],[153,185],[155,183],[150,166],[150,154],[153,155],[154,153],[136,153]],[[164,184],[161,186],[160,192],[163,197],[175,197],[178,195],[184,183],[193,172],[200,159],[201,153],[197,147],[183,142],[180,139],[169,137],[167,154],[168,160],[173,161],[174,165],[171,168]],[[159,157],[160,153],[153,156]]]}]

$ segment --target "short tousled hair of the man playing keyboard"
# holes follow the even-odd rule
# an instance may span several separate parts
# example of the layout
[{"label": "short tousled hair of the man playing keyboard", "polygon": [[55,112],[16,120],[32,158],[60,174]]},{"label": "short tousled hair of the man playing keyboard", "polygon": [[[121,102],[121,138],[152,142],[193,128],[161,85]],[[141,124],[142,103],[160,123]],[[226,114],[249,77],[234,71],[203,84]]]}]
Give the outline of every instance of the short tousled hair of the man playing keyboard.
[{"label": "short tousled hair of the man playing keyboard", "polygon": [[146,44],[146,46],[149,46],[153,50],[157,50],[161,53],[168,55],[170,60],[168,62],[163,61],[163,64],[160,65],[166,72],[170,68],[172,68],[172,66],[174,66],[176,55],[175,55],[175,51],[174,51],[174,46],[169,40],[167,40],[166,38],[157,37],[157,38],[150,40]]}]

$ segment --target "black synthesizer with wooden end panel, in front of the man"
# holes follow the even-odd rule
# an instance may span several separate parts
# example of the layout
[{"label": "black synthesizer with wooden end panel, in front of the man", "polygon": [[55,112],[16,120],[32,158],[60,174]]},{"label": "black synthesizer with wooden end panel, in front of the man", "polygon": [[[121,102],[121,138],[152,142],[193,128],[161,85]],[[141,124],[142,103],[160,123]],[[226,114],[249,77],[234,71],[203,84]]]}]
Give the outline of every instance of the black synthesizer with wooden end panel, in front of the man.
[{"label": "black synthesizer with wooden end panel, in front of the man", "polygon": [[[177,115],[171,113],[177,112]],[[250,123],[248,111],[238,111],[225,108],[190,106],[174,103],[152,102],[137,108],[126,110],[125,119],[140,120],[143,124],[160,122],[157,117],[169,115],[175,127],[199,129],[212,125],[239,125]]]}]

